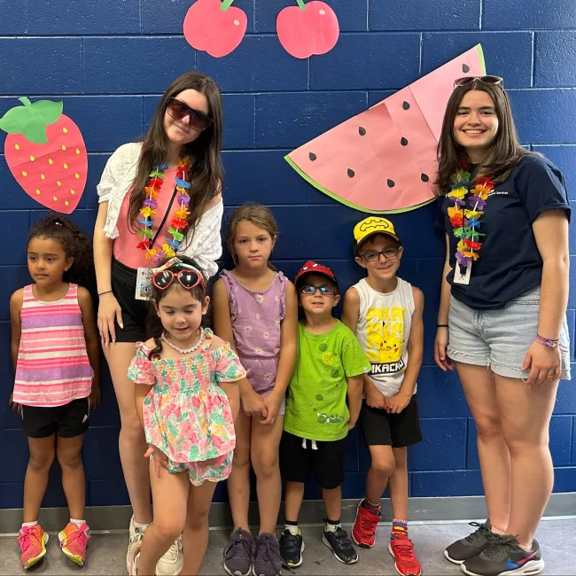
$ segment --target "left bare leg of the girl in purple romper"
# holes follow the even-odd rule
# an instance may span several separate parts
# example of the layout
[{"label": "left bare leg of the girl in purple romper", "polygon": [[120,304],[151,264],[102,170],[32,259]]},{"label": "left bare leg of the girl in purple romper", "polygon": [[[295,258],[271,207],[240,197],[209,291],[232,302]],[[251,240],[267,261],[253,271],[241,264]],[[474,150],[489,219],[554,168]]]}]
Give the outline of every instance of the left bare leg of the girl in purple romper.
[{"label": "left bare leg of the girl in purple romper", "polygon": [[236,448],[234,448],[232,471],[228,478],[228,497],[234,529],[242,528],[247,532],[250,532],[248,507],[250,506],[251,426],[251,418],[240,409],[234,423]]}]

